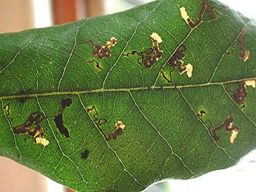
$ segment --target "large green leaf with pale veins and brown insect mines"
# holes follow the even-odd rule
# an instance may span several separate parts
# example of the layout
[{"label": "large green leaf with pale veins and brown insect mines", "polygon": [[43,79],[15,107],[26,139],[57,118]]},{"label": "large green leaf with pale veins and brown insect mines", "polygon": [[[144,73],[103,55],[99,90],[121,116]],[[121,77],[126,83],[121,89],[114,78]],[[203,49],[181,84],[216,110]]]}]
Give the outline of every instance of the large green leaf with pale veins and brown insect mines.
[{"label": "large green leaf with pale veins and brown insect mines", "polygon": [[[235,165],[256,145],[244,83],[256,79],[255,32],[217,1],[164,0],[2,34],[0,154],[76,191],[141,191]],[[92,55],[112,37],[111,56]],[[149,53],[151,68],[139,64]]]}]

